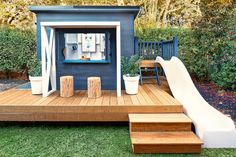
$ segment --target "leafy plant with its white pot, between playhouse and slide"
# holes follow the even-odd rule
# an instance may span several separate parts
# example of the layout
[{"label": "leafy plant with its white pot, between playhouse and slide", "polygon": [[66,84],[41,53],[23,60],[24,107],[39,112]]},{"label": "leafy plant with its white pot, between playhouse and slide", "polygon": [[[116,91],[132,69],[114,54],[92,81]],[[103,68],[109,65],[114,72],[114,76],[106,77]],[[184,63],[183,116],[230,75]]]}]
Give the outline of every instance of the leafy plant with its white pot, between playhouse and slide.
[{"label": "leafy plant with its white pot, between playhouse and slide", "polygon": [[137,94],[139,84],[139,55],[132,55],[131,57],[121,57],[121,69],[123,79],[125,82],[125,91],[127,94]]}]

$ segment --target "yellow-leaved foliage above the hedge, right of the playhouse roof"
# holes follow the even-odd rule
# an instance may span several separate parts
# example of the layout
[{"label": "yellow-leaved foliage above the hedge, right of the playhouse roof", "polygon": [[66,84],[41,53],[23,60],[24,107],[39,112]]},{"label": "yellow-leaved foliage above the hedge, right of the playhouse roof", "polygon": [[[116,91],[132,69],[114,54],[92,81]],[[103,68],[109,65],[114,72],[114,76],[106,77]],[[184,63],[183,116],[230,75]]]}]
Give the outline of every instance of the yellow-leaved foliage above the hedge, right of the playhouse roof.
[{"label": "yellow-leaved foliage above the hedge, right of the playhouse roof", "polygon": [[143,0],[141,20],[150,27],[191,27],[201,17],[199,3],[200,0]]}]

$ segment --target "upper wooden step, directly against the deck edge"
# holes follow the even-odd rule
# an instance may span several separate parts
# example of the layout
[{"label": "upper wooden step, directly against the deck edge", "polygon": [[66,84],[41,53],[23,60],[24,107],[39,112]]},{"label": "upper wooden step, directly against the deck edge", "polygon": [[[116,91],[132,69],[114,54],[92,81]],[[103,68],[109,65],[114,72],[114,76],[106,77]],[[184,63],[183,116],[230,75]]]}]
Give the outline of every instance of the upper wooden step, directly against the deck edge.
[{"label": "upper wooden step, directly against the deck edge", "polygon": [[192,120],[185,114],[129,114],[131,132],[191,131]]}]

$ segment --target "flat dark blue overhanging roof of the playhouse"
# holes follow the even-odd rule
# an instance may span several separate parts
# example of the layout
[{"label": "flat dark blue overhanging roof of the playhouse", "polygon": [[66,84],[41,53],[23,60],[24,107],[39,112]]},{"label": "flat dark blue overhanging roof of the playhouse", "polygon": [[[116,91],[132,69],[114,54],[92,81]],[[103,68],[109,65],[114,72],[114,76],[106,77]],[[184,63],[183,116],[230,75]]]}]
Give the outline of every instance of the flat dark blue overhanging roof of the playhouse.
[{"label": "flat dark blue overhanging roof of the playhouse", "polygon": [[30,6],[34,13],[139,13],[139,6]]}]

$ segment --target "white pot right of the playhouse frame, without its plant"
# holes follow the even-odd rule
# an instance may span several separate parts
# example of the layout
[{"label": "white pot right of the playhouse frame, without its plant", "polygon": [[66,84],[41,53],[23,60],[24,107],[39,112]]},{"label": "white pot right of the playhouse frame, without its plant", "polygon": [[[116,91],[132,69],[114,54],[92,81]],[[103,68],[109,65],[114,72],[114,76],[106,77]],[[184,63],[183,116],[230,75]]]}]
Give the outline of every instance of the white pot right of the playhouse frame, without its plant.
[{"label": "white pot right of the playhouse frame, without its plant", "polygon": [[139,75],[134,77],[129,77],[127,75],[123,75],[123,79],[125,81],[125,91],[127,94],[137,94],[138,93],[138,83],[139,83]]}]

